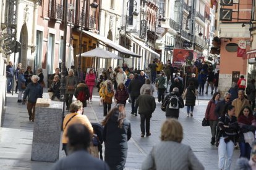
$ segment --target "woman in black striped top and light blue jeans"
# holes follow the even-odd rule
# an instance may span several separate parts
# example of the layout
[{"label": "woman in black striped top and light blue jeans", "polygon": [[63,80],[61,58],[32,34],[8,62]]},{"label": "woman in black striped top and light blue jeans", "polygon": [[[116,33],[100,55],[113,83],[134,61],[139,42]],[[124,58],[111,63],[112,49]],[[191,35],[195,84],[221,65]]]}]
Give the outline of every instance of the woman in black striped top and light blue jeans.
[{"label": "woman in black striped top and light blue jeans", "polygon": [[220,145],[218,147],[219,169],[230,169],[234,144],[237,142],[237,131],[239,125],[235,116],[235,108],[228,105],[227,113],[221,116],[218,123],[220,129]]}]

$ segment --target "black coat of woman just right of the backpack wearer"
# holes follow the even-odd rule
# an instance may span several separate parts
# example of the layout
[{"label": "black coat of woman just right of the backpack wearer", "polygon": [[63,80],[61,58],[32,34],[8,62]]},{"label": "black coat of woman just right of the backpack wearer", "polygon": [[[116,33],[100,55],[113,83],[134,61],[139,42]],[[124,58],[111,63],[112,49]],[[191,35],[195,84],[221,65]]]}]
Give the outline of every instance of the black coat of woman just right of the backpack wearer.
[{"label": "black coat of woman just right of the backpack wearer", "polygon": [[184,92],[183,99],[186,99],[186,106],[195,105],[195,99],[197,99],[197,90],[194,86],[187,87],[186,91]]}]

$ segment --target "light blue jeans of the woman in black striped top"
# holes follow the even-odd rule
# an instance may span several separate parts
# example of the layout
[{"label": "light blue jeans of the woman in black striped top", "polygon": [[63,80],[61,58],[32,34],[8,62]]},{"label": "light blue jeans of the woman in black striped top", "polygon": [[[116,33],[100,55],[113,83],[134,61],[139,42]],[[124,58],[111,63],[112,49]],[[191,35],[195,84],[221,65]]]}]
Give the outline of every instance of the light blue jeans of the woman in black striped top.
[{"label": "light blue jeans of the woman in black striped top", "polygon": [[234,143],[224,141],[224,137],[220,138],[220,145],[218,147],[219,153],[219,169],[229,170],[232,163],[232,156],[234,152]]}]

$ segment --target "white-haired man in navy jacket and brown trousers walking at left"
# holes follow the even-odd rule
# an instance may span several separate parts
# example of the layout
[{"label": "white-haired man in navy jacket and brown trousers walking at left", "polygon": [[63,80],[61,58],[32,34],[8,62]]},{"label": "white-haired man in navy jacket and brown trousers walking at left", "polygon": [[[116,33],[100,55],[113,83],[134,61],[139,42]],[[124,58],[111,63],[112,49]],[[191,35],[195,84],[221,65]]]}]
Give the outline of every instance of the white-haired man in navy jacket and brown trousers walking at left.
[{"label": "white-haired man in navy jacket and brown trousers walking at left", "polygon": [[35,119],[35,105],[38,98],[43,98],[43,87],[38,83],[39,77],[37,75],[32,76],[32,83],[28,84],[22,99],[22,104],[25,105],[27,99],[27,110],[29,121],[34,121]]}]

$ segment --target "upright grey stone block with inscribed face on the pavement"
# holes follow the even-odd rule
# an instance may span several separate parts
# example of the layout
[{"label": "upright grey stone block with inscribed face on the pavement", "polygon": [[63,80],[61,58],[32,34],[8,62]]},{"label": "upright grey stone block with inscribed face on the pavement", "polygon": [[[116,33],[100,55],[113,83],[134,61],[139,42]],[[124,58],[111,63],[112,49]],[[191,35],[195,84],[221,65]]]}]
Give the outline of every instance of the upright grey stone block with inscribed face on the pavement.
[{"label": "upright grey stone block with inscribed face on the pavement", "polygon": [[32,161],[55,162],[59,158],[62,103],[50,99],[36,101]]}]

